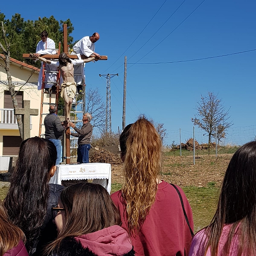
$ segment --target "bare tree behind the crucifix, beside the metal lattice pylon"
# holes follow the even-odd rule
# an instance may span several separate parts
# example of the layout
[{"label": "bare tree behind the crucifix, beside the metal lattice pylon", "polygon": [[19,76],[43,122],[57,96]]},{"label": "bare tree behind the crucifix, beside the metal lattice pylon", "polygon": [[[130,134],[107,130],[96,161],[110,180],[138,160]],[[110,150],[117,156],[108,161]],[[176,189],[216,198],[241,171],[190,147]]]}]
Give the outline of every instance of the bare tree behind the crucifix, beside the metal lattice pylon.
[{"label": "bare tree behind the crucifix, beside the metal lattice pylon", "polygon": [[93,128],[103,132],[106,119],[106,107],[102,101],[98,87],[95,89],[89,88],[86,91],[86,112],[91,113],[93,116],[91,120]]}]

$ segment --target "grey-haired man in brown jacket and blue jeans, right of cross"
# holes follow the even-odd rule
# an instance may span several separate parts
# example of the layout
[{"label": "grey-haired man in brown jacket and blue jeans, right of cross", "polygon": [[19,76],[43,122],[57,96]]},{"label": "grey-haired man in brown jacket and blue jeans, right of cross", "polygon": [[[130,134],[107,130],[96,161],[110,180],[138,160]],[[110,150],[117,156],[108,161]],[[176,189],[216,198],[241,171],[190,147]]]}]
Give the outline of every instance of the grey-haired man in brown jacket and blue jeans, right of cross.
[{"label": "grey-haired man in brown jacket and blue jeans, right of cross", "polygon": [[89,163],[90,138],[93,134],[93,126],[90,124],[91,119],[90,113],[84,113],[81,129],[77,128],[73,122],[68,123],[68,126],[76,131],[76,133],[72,132],[71,135],[78,137],[77,163]]}]

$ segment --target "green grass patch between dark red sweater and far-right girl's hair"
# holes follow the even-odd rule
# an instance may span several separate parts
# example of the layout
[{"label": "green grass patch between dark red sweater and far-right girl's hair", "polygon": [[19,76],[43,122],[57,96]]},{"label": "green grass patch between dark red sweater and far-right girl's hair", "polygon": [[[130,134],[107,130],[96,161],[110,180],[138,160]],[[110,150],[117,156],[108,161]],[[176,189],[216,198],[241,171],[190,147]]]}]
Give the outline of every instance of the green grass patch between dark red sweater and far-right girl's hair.
[{"label": "green grass patch between dark red sweater and far-right girl's hair", "polygon": [[186,186],[182,188],[191,205],[195,232],[209,225],[216,211],[218,187],[209,182],[207,187]]}]

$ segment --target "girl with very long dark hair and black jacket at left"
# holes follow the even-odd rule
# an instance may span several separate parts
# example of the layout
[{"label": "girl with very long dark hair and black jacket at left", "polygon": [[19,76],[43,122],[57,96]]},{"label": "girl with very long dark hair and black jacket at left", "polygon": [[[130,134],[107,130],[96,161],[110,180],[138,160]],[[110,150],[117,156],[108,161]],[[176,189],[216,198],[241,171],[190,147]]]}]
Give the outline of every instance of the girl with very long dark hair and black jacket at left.
[{"label": "girl with very long dark hair and black jacket at left", "polygon": [[49,184],[56,170],[56,158],[56,147],[51,141],[39,137],[24,140],[4,200],[10,220],[25,233],[30,256],[39,255],[42,246],[57,236],[51,207],[57,206],[64,187]]}]

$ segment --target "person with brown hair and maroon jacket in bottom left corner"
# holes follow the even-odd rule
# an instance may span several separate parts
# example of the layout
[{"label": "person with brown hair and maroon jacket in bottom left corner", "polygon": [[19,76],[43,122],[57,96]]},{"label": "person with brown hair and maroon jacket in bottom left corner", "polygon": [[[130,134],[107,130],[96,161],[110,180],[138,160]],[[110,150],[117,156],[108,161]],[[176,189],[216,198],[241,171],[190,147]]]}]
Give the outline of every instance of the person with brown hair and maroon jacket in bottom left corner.
[{"label": "person with brown hair and maroon jacket in bottom left corner", "polygon": [[0,256],[28,256],[24,233],[9,220],[0,201]]}]

